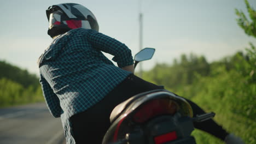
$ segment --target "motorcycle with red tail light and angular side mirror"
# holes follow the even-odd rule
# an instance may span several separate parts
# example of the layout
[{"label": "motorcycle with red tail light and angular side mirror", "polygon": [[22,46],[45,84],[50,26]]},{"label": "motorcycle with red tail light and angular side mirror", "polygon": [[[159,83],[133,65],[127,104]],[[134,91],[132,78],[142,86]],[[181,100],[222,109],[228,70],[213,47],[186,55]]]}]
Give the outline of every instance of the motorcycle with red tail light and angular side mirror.
[{"label": "motorcycle with red tail light and angular side mirror", "polygon": [[[135,55],[135,67],[151,59],[155,49],[145,48]],[[116,106],[103,144],[184,144],[196,143],[193,122],[213,118],[215,113],[193,117],[193,110],[182,97],[157,89],[137,94]]]}]

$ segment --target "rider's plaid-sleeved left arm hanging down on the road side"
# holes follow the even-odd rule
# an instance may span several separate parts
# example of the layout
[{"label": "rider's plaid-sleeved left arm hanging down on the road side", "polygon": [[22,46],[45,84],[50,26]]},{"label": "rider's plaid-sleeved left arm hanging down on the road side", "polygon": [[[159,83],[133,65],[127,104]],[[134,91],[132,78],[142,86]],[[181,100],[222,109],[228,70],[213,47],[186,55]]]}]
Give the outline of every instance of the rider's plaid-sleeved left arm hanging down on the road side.
[{"label": "rider's plaid-sleeved left arm hanging down on the road side", "polygon": [[40,75],[40,83],[42,85],[44,99],[46,101],[48,109],[51,112],[51,115],[53,115],[54,117],[60,117],[62,113],[60,100],[53,92],[53,89],[51,89],[49,83],[44,79],[42,74]]}]

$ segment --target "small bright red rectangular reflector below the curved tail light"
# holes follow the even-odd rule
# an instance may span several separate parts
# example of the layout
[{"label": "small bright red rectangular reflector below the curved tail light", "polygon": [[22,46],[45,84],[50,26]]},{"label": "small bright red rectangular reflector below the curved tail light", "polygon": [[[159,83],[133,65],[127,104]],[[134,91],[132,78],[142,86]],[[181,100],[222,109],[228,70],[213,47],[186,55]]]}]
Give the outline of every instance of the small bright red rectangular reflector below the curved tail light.
[{"label": "small bright red rectangular reflector below the curved tail light", "polygon": [[162,144],[162,143],[173,141],[176,139],[177,139],[176,131],[172,131],[171,133],[154,137],[155,144]]}]

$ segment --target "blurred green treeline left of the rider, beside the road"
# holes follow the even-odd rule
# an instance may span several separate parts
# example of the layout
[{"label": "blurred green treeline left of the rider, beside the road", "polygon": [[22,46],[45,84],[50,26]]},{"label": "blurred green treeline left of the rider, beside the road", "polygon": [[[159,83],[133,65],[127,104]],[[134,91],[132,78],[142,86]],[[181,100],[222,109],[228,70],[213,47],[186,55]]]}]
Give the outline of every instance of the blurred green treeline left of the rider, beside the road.
[{"label": "blurred green treeline left of the rider, beside the road", "polygon": [[44,100],[36,75],[5,61],[0,61],[0,71],[0,107]]}]

